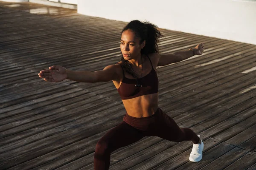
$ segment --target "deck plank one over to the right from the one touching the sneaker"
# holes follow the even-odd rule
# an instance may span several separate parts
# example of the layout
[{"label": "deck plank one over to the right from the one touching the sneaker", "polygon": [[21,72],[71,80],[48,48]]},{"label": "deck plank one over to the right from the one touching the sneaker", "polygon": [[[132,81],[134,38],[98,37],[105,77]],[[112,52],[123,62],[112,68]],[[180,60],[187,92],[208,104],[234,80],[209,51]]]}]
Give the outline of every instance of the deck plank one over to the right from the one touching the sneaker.
[{"label": "deck plank one over to the right from the one touching the sneaker", "polygon": [[230,164],[232,164],[233,162],[235,162],[236,160],[240,159],[247,153],[247,151],[235,147],[233,150],[230,150],[223,156],[219,157],[218,159],[215,159],[211,163],[207,164],[205,167],[201,168],[201,170],[222,170],[229,166]]}]

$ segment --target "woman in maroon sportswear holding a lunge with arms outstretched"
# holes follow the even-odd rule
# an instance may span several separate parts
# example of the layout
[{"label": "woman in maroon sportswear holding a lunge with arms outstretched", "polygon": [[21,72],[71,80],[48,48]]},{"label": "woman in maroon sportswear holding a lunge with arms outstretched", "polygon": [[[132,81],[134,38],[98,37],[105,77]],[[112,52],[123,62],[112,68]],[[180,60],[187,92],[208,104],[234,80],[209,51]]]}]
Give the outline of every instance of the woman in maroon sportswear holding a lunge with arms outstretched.
[{"label": "woman in maroon sportswear holding a lunge with arms outstretched", "polygon": [[70,79],[77,82],[113,81],[127,111],[123,122],[112,128],[96,145],[94,169],[108,170],[111,153],[139,141],[144,136],[159,136],[163,139],[182,142],[192,141],[190,161],[200,161],[204,144],[200,136],[189,128],[179,128],[175,121],[158,108],[157,66],[169,65],[201,55],[204,45],[198,44],[188,51],[162,55],[157,42],[162,36],[157,26],[138,20],[131,21],[122,30],[120,48],[122,59],[108,65],[102,71],[70,71],[61,66],[42,70],[39,77],[49,82]]}]

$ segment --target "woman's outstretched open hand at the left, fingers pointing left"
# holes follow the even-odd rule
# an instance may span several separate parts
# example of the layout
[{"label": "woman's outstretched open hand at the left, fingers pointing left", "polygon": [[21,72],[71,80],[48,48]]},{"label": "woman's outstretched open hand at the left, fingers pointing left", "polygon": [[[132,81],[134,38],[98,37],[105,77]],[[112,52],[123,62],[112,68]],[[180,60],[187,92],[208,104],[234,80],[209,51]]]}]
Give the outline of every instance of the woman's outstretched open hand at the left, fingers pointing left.
[{"label": "woman's outstretched open hand at the left, fingers pointing left", "polygon": [[67,69],[59,65],[53,65],[49,69],[40,71],[38,76],[47,82],[61,82],[67,79]]}]

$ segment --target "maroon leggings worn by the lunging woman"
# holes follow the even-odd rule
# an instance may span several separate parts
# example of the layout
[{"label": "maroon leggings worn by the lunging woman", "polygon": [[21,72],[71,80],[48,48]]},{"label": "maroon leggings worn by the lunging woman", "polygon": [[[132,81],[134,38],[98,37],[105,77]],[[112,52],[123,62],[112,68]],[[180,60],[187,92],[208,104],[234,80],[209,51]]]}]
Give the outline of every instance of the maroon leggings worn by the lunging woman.
[{"label": "maroon leggings worn by the lunging woman", "polygon": [[110,154],[114,150],[137,142],[145,136],[158,136],[174,142],[192,141],[195,144],[200,139],[191,129],[180,129],[160,108],[152,116],[142,118],[132,117],[126,113],[123,122],[108,131],[97,143],[94,169],[108,170]]}]

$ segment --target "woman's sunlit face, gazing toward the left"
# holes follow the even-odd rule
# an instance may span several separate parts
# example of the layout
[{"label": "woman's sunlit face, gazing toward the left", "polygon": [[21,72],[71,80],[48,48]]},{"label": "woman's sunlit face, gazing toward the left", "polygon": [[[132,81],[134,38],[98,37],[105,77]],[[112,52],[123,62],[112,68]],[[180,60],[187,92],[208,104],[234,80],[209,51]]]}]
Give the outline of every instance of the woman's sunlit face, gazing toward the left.
[{"label": "woman's sunlit face, gazing toward the left", "polygon": [[144,46],[145,41],[140,43],[140,38],[133,31],[128,29],[122,32],[120,49],[125,60],[138,59]]}]

